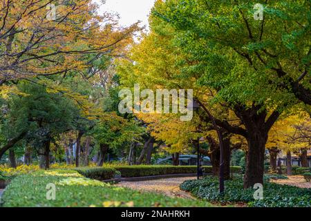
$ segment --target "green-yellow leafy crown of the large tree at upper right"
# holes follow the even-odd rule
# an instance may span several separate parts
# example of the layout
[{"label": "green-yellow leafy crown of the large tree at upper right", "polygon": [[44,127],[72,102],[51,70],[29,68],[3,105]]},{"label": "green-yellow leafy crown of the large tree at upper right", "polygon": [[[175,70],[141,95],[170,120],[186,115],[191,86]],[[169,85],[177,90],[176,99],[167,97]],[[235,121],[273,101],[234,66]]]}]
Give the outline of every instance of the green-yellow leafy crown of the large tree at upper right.
[{"label": "green-yellow leafy crown of the large tree at upper right", "polygon": [[[310,2],[263,3],[264,22],[254,19],[256,3],[159,1],[152,11],[158,26],[151,27],[159,34],[159,27],[174,28],[176,50],[191,63],[185,76],[200,75],[198,84],[217,90],[216,102],[292,103],[299,97],[292,82],[310,69]],[[308,77],[299,86],[309,91]]]}]

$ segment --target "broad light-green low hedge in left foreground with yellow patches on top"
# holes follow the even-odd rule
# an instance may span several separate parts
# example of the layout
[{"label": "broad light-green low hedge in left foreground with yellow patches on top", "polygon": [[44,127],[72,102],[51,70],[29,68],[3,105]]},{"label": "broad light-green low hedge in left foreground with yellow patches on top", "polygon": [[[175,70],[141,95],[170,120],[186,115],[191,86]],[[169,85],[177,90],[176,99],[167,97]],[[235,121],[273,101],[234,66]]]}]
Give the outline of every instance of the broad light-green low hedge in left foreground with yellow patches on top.
[{"label": "broad light-green low hedge in left foreground with yellow patches on top", "polygon": [[[46,185],[55,184],[55,200],[46,199]],[[209,206],[200,200],[168,198],[105,184],[77,171],[37,171],[16,177],[1,198],[5,207]]]}]

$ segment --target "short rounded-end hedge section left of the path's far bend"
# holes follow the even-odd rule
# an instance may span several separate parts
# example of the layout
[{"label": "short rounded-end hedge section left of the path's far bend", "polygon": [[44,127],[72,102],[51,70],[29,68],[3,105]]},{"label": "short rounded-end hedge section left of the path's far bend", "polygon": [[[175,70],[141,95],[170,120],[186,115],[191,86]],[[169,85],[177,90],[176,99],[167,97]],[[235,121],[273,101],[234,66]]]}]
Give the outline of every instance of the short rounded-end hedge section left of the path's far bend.
[{"label": "short rounded-end hedge section left of the path's far bend", "polygon": [[93,180],[110,180],[115,177],[115,169],[111,167],[79,167],[78,173]]}]

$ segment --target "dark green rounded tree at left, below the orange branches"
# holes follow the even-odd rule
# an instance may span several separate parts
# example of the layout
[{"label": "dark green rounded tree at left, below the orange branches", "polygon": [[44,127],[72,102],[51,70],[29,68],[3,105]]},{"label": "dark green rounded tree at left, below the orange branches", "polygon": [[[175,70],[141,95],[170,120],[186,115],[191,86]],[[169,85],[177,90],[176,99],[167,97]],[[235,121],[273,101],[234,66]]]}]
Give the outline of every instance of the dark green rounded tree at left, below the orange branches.
[{"label": "dark green rounded tree at left, below the orange branches", "polygon": [[[12,95],[8,122],[12,131],[22,128],[28,141],[41,155],[41,167],[50,166],[50,144],[55,137],[74,128],[79,109],[59,93],[49,93],[46,86],[22,81],[19,94]],[[21,126],[23,125],[23,126]]]}]

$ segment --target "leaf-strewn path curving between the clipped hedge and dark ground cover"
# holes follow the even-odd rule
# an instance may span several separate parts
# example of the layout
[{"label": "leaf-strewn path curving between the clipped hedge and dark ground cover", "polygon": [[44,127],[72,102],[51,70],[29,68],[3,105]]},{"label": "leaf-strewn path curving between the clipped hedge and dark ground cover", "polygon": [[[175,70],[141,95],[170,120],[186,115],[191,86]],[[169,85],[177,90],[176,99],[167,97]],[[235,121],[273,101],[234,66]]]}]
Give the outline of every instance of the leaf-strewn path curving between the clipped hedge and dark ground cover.
[{"label": "leaf-strewn path curving between the clipped hedge and dark ground cover", "polygon": [[128,187],[138,191],[162,193],[169,197],[194,199],[190,193],[182,191],[179,185],[186,180],[194,180],[195,177],[174,177],[160,180],[146,180],[138,182],[120,182],[116,186]]}]

